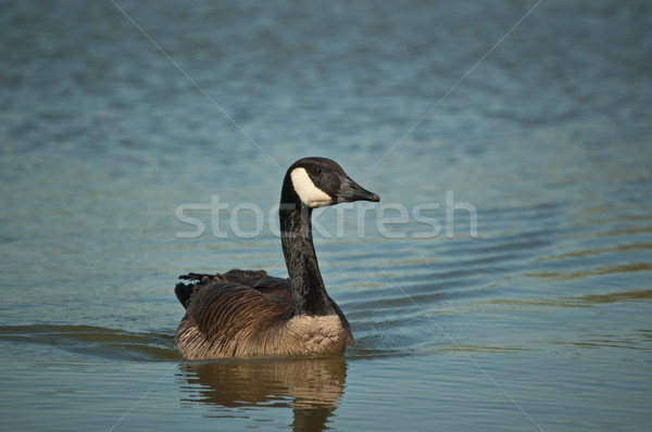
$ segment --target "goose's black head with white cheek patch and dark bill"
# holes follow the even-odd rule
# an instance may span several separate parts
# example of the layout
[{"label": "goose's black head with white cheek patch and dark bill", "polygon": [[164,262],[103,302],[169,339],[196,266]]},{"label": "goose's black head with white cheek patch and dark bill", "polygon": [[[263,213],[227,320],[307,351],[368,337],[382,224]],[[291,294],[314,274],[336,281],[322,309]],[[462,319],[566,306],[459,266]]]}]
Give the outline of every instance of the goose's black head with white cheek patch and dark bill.
[{"label": "goose's black head with white cheek patch and dark bill", "polygon": [[291,192],[310,208],[353,201],[378,202],[380,198],[362,188],[335,161],[304,157],[288,168],[281,201],[290,202]]}]

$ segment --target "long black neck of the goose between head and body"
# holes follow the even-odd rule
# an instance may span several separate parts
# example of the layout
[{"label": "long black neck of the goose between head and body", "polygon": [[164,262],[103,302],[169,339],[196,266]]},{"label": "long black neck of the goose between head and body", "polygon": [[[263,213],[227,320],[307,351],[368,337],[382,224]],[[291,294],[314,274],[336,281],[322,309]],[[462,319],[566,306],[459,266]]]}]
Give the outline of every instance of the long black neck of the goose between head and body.
[{"label": "long black neck of the goose between head and body", "polygon": [[280,242],[290,276],[293,314],[324,316],[335,313],[322,280],[312,239],[312,208],[297,199],[279,208]]}]

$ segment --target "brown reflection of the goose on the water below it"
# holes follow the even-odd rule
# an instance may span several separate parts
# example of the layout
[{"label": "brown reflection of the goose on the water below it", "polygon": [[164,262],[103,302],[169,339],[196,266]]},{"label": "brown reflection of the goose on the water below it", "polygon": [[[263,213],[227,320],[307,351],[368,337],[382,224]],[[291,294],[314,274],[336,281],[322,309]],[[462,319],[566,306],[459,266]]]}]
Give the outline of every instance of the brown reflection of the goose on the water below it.
[{"label": "brown reflection of the goose on the water below it", "polygon": [[291,407],[294,431],[325,429],[347,378],[347,363],[338,357],[187,364],[181,368],[191,385],[187,401],[231,408],[229,411],[259,405]]}]

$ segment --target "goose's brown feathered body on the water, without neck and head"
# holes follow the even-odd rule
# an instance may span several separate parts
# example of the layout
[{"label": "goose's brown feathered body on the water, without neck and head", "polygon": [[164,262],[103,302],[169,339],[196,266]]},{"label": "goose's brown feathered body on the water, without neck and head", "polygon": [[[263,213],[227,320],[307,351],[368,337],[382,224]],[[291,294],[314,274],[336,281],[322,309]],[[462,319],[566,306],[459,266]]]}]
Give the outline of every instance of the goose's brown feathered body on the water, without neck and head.
[{"label": "goose's brown feathered body on the water, without neck and head", "polygon": [[292,316],[289,279],[264,270],[188,274],[175,293],[186,307],[175,344],[188,359],[310,355],[343,352],[353,341],[349,322],[336,314]]}]

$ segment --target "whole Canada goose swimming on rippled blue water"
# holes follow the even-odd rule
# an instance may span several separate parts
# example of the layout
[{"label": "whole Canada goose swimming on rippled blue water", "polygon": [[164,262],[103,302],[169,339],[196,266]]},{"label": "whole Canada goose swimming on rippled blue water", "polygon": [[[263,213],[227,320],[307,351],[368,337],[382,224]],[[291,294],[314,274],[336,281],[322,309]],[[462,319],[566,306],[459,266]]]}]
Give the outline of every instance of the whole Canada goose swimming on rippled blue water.
[{"label": "whole Canada goose swimming on rippled blue water", "polygon": [[280,242],[289,279],[264,270],[188,274],[175,294],[186,308],[174,342],[187,359],[343,353],[351,328],[328,296],[312,239],[312,209],[380,199],[334,161],[305,157],[280,191]]}]

